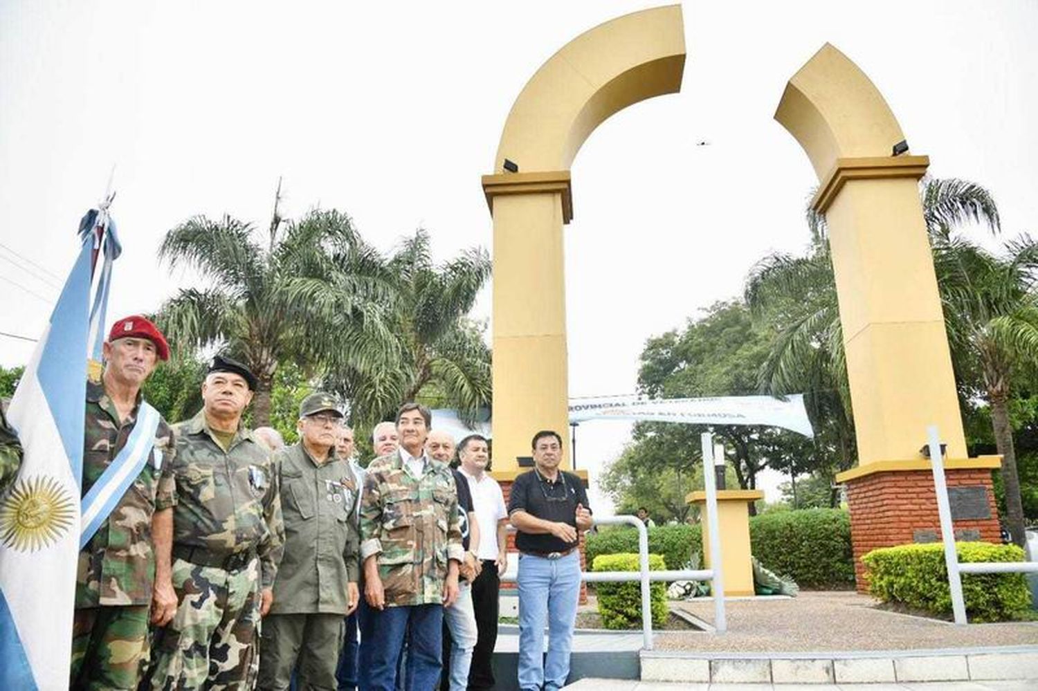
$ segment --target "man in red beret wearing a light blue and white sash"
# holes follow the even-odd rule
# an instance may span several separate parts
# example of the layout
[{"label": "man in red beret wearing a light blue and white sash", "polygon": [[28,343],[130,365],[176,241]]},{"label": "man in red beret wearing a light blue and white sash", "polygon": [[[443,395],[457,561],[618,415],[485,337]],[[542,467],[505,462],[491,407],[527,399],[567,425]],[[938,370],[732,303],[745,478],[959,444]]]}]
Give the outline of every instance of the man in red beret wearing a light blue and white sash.
[{"label": "man in red beret wearing a light blue and white sash", "polygon": [[158,361],[169,359],[169,347],[151,321],[132,315],[112,325],[103,353],[101,380],[86,384],[86,506],[100,496],[91,490],[129,471],[108,513],[100,505],[84,512],[93,532],[79,553],[70,686],[135,689],[147,661],[149,606],[160,623],[176,609],[172,588],[155,580],[157,554],[168,562],[169,544],[153,537],[157,496],[173,481],[173,433],[140,391]]}]

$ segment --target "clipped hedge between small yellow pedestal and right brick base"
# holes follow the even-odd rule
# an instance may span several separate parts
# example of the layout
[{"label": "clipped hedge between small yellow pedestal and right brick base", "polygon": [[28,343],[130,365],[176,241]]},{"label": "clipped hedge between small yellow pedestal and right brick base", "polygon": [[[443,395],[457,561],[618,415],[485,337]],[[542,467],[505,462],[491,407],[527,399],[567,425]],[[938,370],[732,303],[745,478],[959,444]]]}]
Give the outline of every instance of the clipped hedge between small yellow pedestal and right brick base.
[{"label": "clipped hedge between small yellow pedestal and right brick base", "polygon": [[801,588],[854,584],[850,515],[840,508],[769,513],[749,520],[750,550],[765,569]]}]

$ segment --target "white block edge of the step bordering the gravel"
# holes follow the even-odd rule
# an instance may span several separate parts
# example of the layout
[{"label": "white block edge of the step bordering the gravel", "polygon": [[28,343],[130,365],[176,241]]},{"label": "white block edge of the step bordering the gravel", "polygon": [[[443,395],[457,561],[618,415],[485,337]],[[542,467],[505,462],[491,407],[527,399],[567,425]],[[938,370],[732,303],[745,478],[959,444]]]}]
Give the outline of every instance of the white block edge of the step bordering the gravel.
[{"label": "white block edge of the step bordering the gravel", "polygon": [[1038,679],[1038,645],[795,654],[641,651],[639,658],[643,682],[701,685],[939,682],[947,687],[949,682]]}]

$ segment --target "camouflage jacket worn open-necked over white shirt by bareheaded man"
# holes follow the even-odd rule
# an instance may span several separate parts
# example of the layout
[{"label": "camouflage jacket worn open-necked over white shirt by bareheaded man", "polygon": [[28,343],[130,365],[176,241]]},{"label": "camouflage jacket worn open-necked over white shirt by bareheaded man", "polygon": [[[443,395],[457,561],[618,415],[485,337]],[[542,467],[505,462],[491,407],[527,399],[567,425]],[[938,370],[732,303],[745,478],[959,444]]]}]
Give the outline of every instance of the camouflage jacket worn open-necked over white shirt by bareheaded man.
[{"label": "camouflage jacket worn open-necked over white shirt by bareheaded man", "polygon": [[360,509],[360,558],[378,555],[386,605],[440,604],[447,561],[461,561],[458,492],[450,469],[426,459],[421,477],[400,451],[367,466]]}]

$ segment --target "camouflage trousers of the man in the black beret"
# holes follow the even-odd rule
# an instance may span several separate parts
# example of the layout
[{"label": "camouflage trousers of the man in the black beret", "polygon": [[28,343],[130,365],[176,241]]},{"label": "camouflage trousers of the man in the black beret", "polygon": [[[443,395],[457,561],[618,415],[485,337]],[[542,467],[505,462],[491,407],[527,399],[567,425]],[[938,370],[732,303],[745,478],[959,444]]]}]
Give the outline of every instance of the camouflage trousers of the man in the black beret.
[{"label": "camouflage trousers of the man in the black beret", "polygon": [[173,560],[179,605],[155,632],[148,684],[163,689],[251,689],[258,668],[260,564],[241,571]]}]

